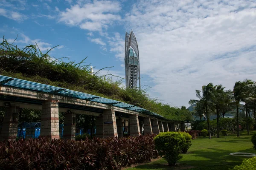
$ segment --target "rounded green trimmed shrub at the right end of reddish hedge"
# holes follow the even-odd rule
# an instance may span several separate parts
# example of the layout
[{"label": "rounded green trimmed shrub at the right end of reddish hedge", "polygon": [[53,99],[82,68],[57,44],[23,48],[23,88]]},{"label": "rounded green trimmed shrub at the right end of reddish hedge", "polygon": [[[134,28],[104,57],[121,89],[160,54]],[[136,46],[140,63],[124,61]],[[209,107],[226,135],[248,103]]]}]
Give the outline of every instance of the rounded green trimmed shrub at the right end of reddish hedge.
[{"label": "rounded green trimmed shrub at the right end of reddish hedge", "polygon": [[154,137],[154,143],[159,155],[173,166],[182,158],[180,152],[186,139],[179,132],[163,132]]}]

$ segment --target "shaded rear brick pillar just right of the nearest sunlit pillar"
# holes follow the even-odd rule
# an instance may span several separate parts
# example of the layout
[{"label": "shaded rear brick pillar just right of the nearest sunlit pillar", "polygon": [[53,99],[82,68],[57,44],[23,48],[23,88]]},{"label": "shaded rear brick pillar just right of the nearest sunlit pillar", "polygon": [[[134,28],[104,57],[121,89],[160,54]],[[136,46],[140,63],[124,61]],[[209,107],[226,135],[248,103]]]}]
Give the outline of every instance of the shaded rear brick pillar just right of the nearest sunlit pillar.
[{"label": "shaded rear brick pillar just right of the nearest sunlit pillar", "polygon": [[75,140],[76,139],[75,136],[76,136],[76,113],[65,113],[63,138]]}]

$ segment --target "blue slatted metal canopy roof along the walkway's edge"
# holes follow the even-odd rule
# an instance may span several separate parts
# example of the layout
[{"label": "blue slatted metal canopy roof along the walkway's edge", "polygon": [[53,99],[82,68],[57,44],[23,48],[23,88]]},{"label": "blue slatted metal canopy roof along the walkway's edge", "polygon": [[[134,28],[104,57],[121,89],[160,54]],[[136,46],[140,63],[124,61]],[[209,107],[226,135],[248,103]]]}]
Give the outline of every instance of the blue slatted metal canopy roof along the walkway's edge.
[{"label": "blue slatted metal canopy roof along the walkway's edge", "polygon": [[139,113],[150,115],[157,119],[169,120],[157,113],[154,113],[146,109],[143,109],[134,105],[130,105],[124,102],[119,102],[116,100],[107,99],[100,96],[94,96],[94,95],[82,93],[79,91],[72,91],[69,89],[59,88],[52,85],[44,85],[37,82],[30,82],[22,79],[16,79],[16,78],[0,75],[0,86],[20,88],[20,89],[29,90],[29,91],[36,91],[36,92],[47,93],[47,94],[56,94],[59,96],[73,97],[76,99],[88,100],[91,102],[98,102],[106,105],[116,106],[118,108],[125,108],[130,111],[136,111]]}]

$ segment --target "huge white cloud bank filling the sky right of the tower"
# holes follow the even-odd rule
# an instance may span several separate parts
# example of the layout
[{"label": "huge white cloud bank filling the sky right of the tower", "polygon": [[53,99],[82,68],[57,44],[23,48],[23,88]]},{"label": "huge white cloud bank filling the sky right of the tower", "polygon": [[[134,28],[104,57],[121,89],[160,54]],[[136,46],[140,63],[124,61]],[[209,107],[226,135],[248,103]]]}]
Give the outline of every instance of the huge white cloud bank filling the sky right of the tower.
[{"label": "huge white cloud bank filling the sky right of the tower", "polygon": [[[125,15],[126,29],[137,37],[140,71],[154,82],[152,94],[181,106],[209,82],[231,89],[236,81],[255,80],[255,8],[254,0],[140,0],[134,5]],[[116,40],[111,51],[123,61],[124,40]]]}]

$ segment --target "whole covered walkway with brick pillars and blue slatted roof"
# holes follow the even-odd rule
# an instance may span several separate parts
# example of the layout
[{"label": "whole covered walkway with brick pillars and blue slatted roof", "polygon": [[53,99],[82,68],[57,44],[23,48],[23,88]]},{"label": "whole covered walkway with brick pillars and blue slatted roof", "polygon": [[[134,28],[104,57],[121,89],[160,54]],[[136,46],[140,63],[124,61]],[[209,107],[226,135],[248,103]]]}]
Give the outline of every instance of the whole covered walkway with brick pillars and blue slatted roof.
[{"label": "whole covered walkway with brick pillars and blue slatted roof", "polygon": [[58,112],[65,112],[63,137],[67,139],[75,138],[76,114],[97,116],[98,137],[122,136],[123,119],[129,121],[130,135],[141,134],[139,119],[145,134],[176,130],[175,122],[134,105],[1,75],[0,106],[6,108],[0,139],[16,139],[19,108],[42,110],[40,135],[52,139],[59,138]]}]

